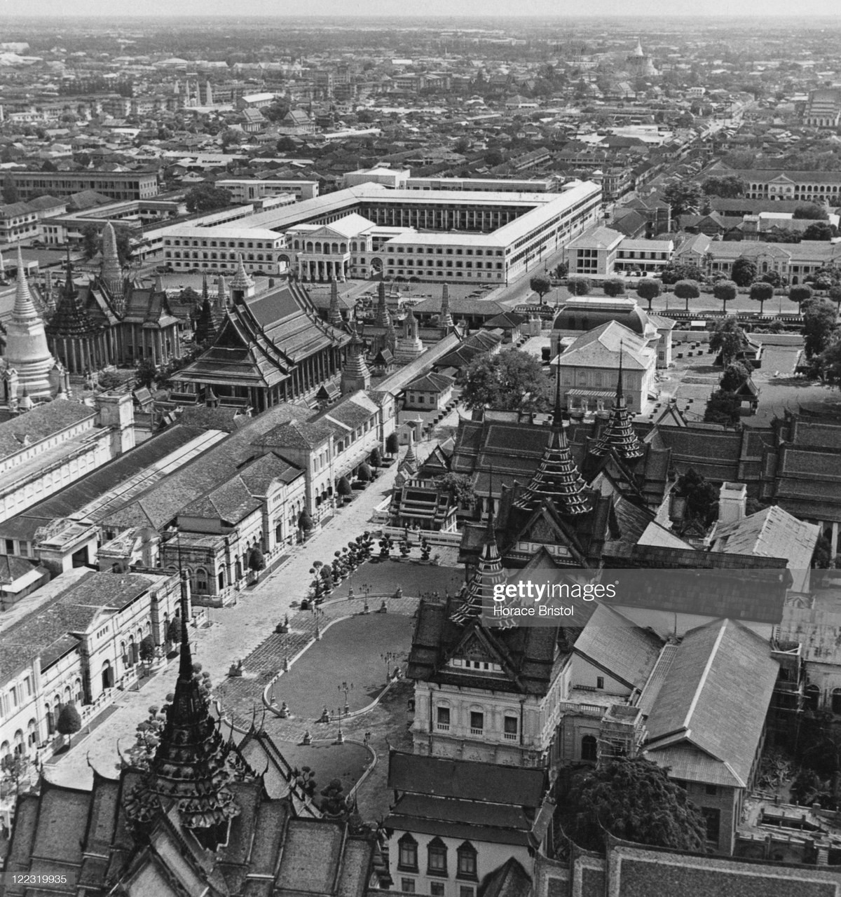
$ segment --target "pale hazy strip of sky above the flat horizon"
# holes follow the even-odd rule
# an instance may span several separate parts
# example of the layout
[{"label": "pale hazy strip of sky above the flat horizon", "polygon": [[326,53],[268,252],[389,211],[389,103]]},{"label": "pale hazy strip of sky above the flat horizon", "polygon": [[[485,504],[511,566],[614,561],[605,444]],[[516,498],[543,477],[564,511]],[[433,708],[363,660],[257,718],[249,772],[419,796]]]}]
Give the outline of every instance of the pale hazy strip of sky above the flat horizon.
[{"label": "pale hazy strip of sky above the flat horizon", "polygon": [[507,15],[507,16],[594,16],[616,15],[630,18],[640,15],[662,17],[710,18],[726,15],[744,17],[756,11],[767,22],[777,16],[796,17],[807,22],[828,18],[841,25],[837,0],[765,0],[752,5],[735,0],[704,0],[702,4],[676,4],[674,0],[424,0],[422,4],[403,0],[0,0],[0,11],[9,16],[48,15],[51,17],[108,15],[413,15],[421,11],[429,16]]}]

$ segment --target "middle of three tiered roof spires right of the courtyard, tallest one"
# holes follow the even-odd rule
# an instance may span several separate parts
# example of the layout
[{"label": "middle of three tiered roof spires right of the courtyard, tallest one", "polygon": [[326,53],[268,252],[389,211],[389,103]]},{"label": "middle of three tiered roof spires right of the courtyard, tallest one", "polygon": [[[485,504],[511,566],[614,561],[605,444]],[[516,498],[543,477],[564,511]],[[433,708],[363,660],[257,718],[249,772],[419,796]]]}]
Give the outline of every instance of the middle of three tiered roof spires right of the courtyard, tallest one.
[{"label": "middle of three tiered roof spires right of the courtyard, tallest one", "polygon": [[551,437],[543,451],[541,464],[532,482],[517,498],[515,506],[534,510],[542,501],[551,501],[561,514],[577,516],[590,510],[586,483],[578,472],[569,449],[567,433],[560,414],[560,368],[555,376],[555,410],[552,415]]}]

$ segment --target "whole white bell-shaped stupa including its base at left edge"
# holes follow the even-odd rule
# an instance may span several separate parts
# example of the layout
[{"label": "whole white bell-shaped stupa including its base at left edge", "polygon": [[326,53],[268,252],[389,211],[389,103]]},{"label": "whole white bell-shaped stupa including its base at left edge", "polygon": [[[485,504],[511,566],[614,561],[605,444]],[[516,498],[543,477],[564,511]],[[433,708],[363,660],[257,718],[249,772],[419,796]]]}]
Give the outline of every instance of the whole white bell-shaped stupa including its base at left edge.
[{"label": "whole white bell-shaped stupa including its base at left edge", "polygon": [[25,410],[33,400],[55,396],[62,378],[49,351],[44,322],[32,301],[20,248],[14,308],[5,327],[5,357],[0,372],[4,404],[11,411],[19,407]]}]

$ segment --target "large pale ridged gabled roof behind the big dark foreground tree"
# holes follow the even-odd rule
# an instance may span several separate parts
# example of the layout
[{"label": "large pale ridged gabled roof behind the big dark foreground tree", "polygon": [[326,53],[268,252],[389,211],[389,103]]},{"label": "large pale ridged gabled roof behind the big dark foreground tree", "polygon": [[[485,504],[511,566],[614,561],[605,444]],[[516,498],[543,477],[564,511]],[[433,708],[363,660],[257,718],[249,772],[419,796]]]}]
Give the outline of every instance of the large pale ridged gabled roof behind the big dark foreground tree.
[{"label": "large pale ridged gabled roof behind the big dark foreground tree", "polygon": [[676,779],[750,787],[778,668],[741,623],[687,632],[648,717],[649,759]]}]

